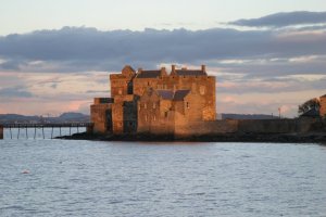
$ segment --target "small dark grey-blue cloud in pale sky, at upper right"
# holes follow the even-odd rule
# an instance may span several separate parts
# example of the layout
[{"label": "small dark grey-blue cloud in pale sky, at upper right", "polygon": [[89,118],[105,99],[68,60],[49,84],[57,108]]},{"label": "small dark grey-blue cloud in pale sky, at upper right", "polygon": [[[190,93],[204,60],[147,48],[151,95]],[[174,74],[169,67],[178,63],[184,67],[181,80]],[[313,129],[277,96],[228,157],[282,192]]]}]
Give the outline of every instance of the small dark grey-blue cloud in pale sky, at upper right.
[{"label": "small dark grey-blue cloud in pale sky, at upper right", "polygon": [[260,18],[238,20],[230,25],[249,27],[285,27],[304,24],[325,24],[326,12],[296,11],[275,13]]}]

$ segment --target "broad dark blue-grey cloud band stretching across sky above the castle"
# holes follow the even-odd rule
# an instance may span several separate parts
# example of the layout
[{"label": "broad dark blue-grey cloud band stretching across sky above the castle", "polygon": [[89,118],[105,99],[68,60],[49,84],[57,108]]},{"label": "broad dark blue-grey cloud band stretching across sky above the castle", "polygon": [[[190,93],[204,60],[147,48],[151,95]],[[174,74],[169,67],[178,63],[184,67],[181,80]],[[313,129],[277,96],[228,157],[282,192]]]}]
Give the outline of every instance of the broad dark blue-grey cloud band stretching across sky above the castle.
[{"label": "broad dark blue-grey cloud band stretching across sky above the castle", "polygon": [[[225,59],[326,54],[326,33],[281,34],[225,28],[100,31],[64,27],[0,37],[0,58],[20,62],[16,65],[25,72],[87,72],[118,71],[125,64],[156,67],[160,63],[200,64]],[[291,37],[296,40],[290,40]],[[34,61],[42,61],[42,65],[29,64]]]}]

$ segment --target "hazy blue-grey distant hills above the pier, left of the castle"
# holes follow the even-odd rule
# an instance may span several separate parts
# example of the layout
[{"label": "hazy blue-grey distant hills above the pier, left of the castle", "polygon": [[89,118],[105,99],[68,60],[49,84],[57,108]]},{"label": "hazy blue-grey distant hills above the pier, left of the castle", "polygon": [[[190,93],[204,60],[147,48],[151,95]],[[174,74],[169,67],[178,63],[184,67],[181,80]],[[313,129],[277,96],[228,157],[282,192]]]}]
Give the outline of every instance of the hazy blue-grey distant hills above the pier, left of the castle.
[{"label": "hazy blue-grey distant hills above the pier, left of the castle", "polygon": [[66,122],[90,122],[89,115],[82,113],[63,113],[59,117],[42,117],[42,116],[25,116],[17,114],[0,114],[0,123],[22,123],[22,124],[37,124],[37,123],[66,123]]}]

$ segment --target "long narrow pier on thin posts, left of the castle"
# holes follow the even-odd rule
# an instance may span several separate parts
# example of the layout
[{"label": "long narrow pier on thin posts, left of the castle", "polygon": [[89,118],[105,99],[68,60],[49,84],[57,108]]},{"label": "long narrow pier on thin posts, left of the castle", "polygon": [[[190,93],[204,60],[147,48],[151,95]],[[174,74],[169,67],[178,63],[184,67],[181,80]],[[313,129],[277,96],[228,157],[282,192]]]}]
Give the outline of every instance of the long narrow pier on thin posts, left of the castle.
[{"label": "long narrow pier on thin posts, left of the castle", "polygon": [[70,128],[70,136],[72,135],[72,128],[77,128],[77,132],[79,132],[79,128],[85,127],[87,131],[91,130],[92,123],[45,123],[45,124],[0,124],[0,139],[3,139],[4,129],[10,130],[10,138],[13,139],[12,129],[18,129],[17,139],[20,139],[21,130],[25,131],[25,137],[28,139],[28,128],[34,129],[34,139],[36,139],[37,129],[42,131],[42,138],[46,139],[45,128],[51,128],[51,139],[53,138],[54,128],[59,128],[60,137],[61,137],[61,128]]}]

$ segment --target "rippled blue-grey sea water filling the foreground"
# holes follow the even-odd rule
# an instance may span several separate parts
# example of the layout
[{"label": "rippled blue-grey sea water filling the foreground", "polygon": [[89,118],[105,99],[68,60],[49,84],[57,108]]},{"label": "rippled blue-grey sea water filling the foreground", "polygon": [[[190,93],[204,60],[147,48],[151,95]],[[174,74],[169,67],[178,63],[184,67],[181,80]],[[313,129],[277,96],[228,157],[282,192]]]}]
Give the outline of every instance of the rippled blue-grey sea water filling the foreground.
[{"label": "rippled blue-grey sea water filling the foreground", "polygon": [[39,131],[7,129],[0,140],[1,217],[326,216],[324,144],[78,141]]}]

